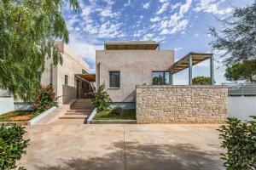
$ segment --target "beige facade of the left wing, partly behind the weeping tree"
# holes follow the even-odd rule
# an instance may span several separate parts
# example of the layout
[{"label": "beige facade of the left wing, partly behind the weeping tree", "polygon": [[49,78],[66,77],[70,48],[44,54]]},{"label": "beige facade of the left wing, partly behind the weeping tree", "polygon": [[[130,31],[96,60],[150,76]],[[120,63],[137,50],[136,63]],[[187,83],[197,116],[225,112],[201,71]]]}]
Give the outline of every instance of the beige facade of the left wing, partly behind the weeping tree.
[{"label": "beige facade of the left wing, partly behind the weeping tree", "polygon": [[[90,82],[86,82],[76,74],[89,73],[90,67],[83,59],[79,58],[73,51],[62,42],[56,42],[63,63],[54,66],[51,59],[47,59],[44,72],[41,77],[43,85],[52,84],[60,103],[66,103],[70,99],[83,97],[83,93],[90,88]],[[66,82],[65,82],[66,77]],[[78,91],[79,88],[79,91]],[[78,93],[78,94],[77,94]]]}]

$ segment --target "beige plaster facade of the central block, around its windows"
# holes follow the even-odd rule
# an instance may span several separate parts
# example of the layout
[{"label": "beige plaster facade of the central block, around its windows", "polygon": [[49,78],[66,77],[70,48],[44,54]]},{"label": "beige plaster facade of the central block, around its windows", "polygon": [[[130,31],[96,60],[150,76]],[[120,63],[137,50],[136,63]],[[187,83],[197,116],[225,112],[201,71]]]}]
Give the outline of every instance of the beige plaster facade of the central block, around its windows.
[{"label": "beige plaster facade of the central block, around its windows", "polygon": [[[173,50],[96,50],[96,88],[105,83],[113,102],[135,102],[136,85],[153,82],[153,71],[168,71]],[[109,71],[119,71],[119,88],[109,87]]]}]

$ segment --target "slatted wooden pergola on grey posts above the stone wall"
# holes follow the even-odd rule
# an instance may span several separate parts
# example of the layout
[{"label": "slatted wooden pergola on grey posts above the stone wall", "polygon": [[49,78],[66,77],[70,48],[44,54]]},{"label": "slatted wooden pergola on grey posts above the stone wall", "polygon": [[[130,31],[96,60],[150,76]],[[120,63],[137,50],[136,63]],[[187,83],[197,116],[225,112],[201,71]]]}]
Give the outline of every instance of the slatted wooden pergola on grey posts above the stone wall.
[{"label": "slatted wooden pergola on grey posts above the stone wall", "polygon": [[211,74],[211,82],[212,85],[214,84],[214,77],[213,77],[213,54],[212,53],[194,53],[190,52],[186,54],[182,59],[177,60],[172,67],[171,72],[172,75],[183,71],[184,69],[189,68],[189,85],[192,84],[192,66],[196,65],[206,59],[210,59],[210,74]]}]

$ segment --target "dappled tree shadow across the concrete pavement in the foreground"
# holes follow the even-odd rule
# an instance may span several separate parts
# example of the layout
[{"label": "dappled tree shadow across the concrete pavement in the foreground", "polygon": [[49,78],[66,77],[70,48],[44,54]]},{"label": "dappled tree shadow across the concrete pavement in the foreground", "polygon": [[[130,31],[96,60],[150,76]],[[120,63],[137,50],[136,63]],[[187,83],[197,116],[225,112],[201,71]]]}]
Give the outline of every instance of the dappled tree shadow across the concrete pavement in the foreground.
[{"label": "dappled tree shadow across the concrete pavement in the foreground", "polygon": [[[103,157],[59,160],[56,167],[36,167],[39,170],[217,170],[224,169],[219,160],[219,151],[203,151],[192,144],[139,144],[113,143],[115,149]],[[113,150],[112,147],[112,150]],[[110,148],[109,148],[110,149]]]}]

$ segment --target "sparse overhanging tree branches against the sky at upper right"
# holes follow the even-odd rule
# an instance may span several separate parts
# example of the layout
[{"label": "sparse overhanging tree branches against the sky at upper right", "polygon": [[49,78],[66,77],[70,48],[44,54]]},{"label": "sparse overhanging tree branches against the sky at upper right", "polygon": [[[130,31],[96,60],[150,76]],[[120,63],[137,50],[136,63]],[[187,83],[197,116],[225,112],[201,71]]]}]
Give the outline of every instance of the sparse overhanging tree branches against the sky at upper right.
[{"label": "sparse overhanging tree branches against the sky at upper right", "polygon": [[230,17],[220,20],[222,29],[210,28],[215,39],[212,48],[224,50],[224,64],[230,66],[243,60],[256,59],[256,1],[246,8],[235,8]]}]

